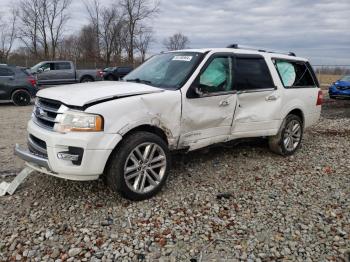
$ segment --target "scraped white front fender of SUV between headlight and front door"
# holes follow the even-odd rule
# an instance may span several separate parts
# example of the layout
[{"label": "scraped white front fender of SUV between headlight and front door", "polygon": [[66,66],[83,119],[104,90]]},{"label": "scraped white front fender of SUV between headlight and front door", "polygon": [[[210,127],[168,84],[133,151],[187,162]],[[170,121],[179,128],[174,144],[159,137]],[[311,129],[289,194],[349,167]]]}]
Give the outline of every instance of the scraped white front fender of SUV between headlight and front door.
[{"label": "scraped white front fender of SUV between headlight and front door", "polygon": [[181,119],[179,90],[117,98],[91,106],[86,112],[103,116],[105,133],[123,136],[138,126],[152,125],[164,131],[170,148],[177,146]]}]

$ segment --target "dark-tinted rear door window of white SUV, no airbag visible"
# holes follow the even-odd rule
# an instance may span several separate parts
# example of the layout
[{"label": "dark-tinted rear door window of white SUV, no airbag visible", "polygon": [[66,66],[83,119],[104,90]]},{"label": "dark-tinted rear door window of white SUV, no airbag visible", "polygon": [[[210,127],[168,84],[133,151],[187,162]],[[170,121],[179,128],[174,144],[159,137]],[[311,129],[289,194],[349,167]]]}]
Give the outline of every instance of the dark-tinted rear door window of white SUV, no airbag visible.
[{"label": "dark-tinted rear door window of white SUV, no airbag visible", "polygon": [[275,88],[263,57],[238,56],[235,59],[235,88],[261,90]]}]

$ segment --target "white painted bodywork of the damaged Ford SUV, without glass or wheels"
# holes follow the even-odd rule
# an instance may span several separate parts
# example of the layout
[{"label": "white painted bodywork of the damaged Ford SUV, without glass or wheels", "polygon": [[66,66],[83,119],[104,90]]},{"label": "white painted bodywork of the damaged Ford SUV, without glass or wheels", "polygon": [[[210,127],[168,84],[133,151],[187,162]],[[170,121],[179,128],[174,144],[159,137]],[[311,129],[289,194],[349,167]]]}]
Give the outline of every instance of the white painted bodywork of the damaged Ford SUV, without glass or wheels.
[{"label": "white painted bodywork of the damaged Ford SUV, without glass or wheels", "polygon": [[[210,50],[201,50],[203,53],[206,51]],[[220,52],[262,55],[275,88],[187,98],[188,89],[210,55]],[[140,126],[163,130],[170,149],[195,150],[236,138],[275,135],[283,119],[294,109],[302,112],[304,127],[312,125],[320,116],[321,107],[316,106],[319,89],[284,88],[271,62],[272,56],[303,60],[256,51],[215,49],[206,55],[179,90],[128,82],[96,82],[48,88],[40,91],[38,96],[103,116],[104,131],[61,134],[45,130],[31,120],[28,132],[46,142],[49,167],[54,175],[90,180],[97,179],[103,173],[112,150],[123,136]],[[57,153],[68,146],[84,149],[80,166],[57,158]],[[52,174],[51,171],[47,173]]]}]

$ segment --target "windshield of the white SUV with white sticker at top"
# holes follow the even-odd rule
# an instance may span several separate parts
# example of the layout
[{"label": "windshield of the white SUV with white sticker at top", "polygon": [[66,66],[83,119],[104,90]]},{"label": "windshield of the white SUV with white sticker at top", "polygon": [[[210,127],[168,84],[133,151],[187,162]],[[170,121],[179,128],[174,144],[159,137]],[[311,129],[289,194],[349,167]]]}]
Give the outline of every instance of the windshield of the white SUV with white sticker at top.
[{"label": "windshield of the white SUV with white sticker at top", "polygon": [[129,73],[124,80],[177,89],[184,84],[202,57],[202,53],[196,52],[159,54]]}]

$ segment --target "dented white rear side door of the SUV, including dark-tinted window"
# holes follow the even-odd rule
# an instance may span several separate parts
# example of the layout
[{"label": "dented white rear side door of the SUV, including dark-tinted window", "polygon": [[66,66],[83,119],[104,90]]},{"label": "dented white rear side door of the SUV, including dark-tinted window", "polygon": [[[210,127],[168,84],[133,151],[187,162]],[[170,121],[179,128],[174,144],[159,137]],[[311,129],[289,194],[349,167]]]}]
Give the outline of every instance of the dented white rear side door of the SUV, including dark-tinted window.
[{"label": "dented white rear side door of the SUV, including dark-tinted window", "polygon": [[270,68],[261,55],[236,55],[234,63],[237,108],[231,133],[233,137],[273,135],[280,125],[281,90],[272,79]]}]

